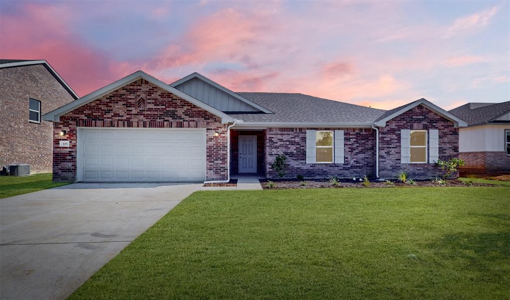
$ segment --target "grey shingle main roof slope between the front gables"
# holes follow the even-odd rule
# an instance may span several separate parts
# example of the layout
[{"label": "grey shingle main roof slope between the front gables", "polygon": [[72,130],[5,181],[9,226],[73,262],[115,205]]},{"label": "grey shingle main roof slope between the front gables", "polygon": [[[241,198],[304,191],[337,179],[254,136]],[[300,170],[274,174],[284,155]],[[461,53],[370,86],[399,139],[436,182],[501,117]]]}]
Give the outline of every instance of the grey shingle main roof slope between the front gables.
[{"label": "grey shingle main roof slope between the front gables", "polygon": [[368,123],[386,112],[297,93],[238,94],[274,113],[229,113],[230,116],[246,122]]}]

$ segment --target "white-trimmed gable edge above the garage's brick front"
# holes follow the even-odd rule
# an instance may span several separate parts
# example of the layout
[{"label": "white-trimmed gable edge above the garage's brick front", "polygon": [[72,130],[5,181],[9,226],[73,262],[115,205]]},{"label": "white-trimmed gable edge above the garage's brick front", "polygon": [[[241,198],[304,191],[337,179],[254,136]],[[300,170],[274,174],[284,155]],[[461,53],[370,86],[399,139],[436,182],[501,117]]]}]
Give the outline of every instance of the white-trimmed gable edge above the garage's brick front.
[{"label": "white-trimmed gable edge above the garage's brick front", "polygon": [[83,96],[82,98],[80,98],[78,100],[74,100],[70,103],[67,103],[64,106],[57,108],[54,111],[46,113],[46,114],[44,114],[43,119],[46,121],[58,122],[60,116],[66,114],[72,110],[75,110],[76,108],[78,108],[82,105],[92,102],[97,98],[107,95],[107,94],[127,85],[127,84],[132,83],[133,81],[140,79],[140,78],[143,78],[143,79],[149,81],[149,83],[151,83],[167,92],[170,92],[170,93],[174,94],[175,96],[181,97],[181,98],[185,99],[186,101],[195,104],[196,106],[202,108],[205,111],[208,111],[209,113],[211,113],[213,115],[220,117],[222,123],[228,123],[228,122],[233,121],[233,118],[226,115],[225,113],[220,112],[216,108],[214,108],[210,105],[207,105],[206,103],[203,103],[203,102],[191,97],[190,95],[185,94],[185,93],[165,84],[163,81],[161,81],[155,77],[152,77],[143,71],[136,71],[135,73],[133,73],[131,75],[127,75],[124,78],[121,78],[121,79],[109,84],[106,87],[100,88],[99,90],[92,92],[86,96]]}]

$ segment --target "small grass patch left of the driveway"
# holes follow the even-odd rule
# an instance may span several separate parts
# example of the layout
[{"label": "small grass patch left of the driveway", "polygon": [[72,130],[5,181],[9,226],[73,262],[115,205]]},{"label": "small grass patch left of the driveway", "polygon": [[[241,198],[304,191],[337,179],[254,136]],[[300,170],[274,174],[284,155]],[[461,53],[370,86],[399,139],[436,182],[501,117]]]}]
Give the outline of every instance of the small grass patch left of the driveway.
[{"label": "small grass patch left of the driveway", "polygon": [[53,182],[52,173],[30,176],[0,176],[0,198],[36,192],[37,190],[66,185],[66,182]]}]

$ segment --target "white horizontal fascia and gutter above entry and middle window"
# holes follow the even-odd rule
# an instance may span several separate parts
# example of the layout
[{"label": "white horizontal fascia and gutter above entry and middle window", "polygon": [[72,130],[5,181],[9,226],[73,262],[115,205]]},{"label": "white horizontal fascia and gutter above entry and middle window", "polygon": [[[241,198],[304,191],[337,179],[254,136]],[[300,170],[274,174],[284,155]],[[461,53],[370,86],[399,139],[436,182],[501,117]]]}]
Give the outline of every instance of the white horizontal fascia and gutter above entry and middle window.
[{"label": "white horizontal fascia and gutter above entry and middle window", "polygon": [[236,128],[300,127],[300,128],[371,128],[373,123],[313,123],[313,122],[245,122],[237,121]]}]

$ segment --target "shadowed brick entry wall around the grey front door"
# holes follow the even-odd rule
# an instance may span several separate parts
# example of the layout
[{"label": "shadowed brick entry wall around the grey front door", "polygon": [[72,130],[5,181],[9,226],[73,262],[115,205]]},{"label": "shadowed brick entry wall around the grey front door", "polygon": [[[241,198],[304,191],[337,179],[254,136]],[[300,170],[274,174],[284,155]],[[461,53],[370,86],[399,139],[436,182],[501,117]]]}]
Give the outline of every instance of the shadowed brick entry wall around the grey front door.
[{"label": "shadowed brick entry wall around the grey front door", "polygon": [[231,130],[230,131],[230,173],[239,174],[239,135],[256,135],[257,137],[257,174],[265,175],[265,159],[264,143],[266,139],[266,130],[246,131]]}]

